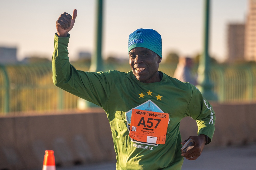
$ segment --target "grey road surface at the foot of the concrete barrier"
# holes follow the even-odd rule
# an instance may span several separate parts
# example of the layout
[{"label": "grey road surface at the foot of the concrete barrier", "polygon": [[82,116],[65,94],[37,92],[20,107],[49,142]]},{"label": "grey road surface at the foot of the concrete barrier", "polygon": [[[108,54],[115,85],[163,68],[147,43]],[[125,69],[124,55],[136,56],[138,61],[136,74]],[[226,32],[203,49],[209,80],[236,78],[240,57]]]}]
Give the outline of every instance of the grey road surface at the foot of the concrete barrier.
[{"label": "grey road surface at the foot of the concrete barrier", "polygon": [[[56,170],[115,170],[115,162],[105,162],[72,167],[57,167]],[[256,169],[256,144],[206,148],[195,161],[184,160],[182,170],[254,170]]]}]

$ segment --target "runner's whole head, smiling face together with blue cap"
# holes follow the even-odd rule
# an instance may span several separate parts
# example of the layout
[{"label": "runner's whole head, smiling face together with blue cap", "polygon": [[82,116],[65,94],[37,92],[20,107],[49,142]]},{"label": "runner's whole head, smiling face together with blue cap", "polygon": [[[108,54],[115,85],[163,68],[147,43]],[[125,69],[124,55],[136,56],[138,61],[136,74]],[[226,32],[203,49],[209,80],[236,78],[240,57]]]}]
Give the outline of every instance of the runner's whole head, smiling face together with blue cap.
[{"label": "runner's whole head, smiling face together with blue cap", "polygon": [[129,63],[137,80],[143,83],[160,82],[161,41],[160,34],[152,29],[137,29],[129,36]]}]

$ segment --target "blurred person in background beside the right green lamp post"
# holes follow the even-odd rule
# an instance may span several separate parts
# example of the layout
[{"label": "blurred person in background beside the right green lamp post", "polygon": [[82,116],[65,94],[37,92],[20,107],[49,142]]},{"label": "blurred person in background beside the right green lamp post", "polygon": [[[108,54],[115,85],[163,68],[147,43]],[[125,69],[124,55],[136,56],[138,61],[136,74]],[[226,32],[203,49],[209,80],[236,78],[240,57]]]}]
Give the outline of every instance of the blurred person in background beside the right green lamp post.
[{"label": "blurred person in background beside the right green lamp post", "polygon": [[193,72],[193,59],[189,56],[180,56],[179,63],[173,74],[174,78],[182,82],[189,82],[194,86],[197,85],[197,75]]}]

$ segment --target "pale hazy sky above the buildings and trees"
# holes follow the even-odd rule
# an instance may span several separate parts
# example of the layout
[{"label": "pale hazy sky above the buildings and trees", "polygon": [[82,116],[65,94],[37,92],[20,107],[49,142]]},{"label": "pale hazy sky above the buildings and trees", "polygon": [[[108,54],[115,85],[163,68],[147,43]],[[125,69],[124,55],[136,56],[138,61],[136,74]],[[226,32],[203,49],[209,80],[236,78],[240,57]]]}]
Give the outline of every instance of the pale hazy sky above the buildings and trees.
[{"label": "pale hazy sky above the buildings and trees", "polygon": [[[103,0],[102,55],[128,58],[128,37],[138,28],[162,36],[163,59],[169,52],[195,55],[203,47],[205,0]],[[78,10],[69,32],[70,60],[79,51],[94,52],[96,0],[0,0],[0,46],[17,47],[18,60],[40,55],[52,58],[56,20],[63,12]],[[227,56],[227,24],[243,23],[248,0],[210,1],[209,54],[222,62]]]}]

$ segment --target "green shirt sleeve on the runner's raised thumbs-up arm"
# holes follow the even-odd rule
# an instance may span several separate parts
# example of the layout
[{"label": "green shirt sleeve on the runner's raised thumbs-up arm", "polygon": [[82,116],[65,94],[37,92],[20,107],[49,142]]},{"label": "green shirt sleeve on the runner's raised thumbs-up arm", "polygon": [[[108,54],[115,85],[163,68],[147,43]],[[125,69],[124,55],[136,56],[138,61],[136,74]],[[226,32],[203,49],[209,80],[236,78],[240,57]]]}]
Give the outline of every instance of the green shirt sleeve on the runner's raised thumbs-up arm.
[{"label": "green shirt sleeve on the runner's raised thumbs-up arm", "polygon": [[53,82],[57,87],[83,98],[91,103],[104,107],[111,88],[110,72],[85,72],[76,70],[69,62],[68,37],[55,34],[52,57]]}]

